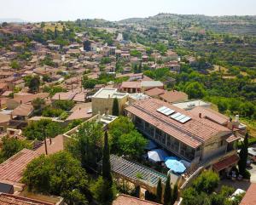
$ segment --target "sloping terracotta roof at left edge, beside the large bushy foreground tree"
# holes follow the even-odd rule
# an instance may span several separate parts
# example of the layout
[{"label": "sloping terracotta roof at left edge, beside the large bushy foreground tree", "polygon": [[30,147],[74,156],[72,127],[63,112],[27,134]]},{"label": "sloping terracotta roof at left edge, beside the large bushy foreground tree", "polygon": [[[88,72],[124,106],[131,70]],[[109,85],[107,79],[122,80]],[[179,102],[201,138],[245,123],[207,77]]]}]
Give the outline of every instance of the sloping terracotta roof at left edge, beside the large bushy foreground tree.
[{"label": "sloping terracotta roof at left edge, beside the large bushy foreground tree", "polygon": [[36,151],[23,149],[0,164],[0,180],[19,182],[26,165],[39,154]]}]

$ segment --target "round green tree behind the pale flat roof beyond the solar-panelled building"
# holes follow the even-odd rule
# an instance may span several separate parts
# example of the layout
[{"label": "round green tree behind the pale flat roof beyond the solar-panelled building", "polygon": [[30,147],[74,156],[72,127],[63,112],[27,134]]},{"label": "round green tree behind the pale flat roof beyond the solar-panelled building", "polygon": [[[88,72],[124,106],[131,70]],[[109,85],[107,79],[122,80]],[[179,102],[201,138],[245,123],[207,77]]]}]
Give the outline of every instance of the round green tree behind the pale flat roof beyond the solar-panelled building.
[{"label": "round green tree behind the pale flat roof beyond the solar-panelled building", "polygon": [[202,99],[206,94],[205,89],[198,82],[188,83],[185,92],[189,95],[189,99]]}]

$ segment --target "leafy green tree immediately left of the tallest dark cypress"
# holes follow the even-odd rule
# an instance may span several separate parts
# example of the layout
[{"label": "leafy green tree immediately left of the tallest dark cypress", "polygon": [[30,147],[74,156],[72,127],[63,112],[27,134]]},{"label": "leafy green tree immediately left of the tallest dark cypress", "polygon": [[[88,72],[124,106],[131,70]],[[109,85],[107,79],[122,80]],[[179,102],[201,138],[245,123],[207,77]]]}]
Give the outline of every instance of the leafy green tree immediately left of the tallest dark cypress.
[{"label": "leafy green tree immediately left of the tallest dark cypress", "polygon": [[102,135],[100,123],[84,122],[68,143],[67,150],[79,159],[83,168],[94,169],[102,157]]}]

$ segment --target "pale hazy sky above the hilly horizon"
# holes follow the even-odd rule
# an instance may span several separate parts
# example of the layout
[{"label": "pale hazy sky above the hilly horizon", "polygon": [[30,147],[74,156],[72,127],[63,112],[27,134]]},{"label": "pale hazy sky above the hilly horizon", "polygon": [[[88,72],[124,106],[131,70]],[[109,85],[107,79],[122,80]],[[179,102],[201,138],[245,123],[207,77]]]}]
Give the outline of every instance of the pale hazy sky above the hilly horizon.
[{"label": "pale hazy sky above the hilly horizon", "polygon": [[122,20],[158,13],[252,15],[256,0],[0,0],[0,18]]}]

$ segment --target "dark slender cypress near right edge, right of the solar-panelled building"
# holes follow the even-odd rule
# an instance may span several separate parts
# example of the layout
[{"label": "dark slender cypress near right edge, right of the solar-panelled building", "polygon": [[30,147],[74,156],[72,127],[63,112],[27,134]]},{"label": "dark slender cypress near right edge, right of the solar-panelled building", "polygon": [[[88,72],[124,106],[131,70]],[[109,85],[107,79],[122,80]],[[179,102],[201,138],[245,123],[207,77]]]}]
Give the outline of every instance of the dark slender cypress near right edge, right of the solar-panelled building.
[{"label": "dark slender cypress near right edge, right of the solar-panelled building", "polygon": [[248,157],[248,134],[245,135],[245,138],[242,143],[241,151],[239,153],[240,160],[238,162],[238,168],[241,175],[244,175],[247,168],[247,157]]}]

